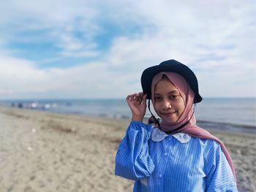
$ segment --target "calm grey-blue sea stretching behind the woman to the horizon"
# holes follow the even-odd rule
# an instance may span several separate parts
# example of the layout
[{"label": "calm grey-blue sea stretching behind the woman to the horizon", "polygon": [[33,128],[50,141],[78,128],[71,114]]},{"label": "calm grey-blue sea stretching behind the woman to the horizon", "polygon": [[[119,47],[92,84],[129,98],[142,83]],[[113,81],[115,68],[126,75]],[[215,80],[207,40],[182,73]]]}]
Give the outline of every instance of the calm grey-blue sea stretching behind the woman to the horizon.
[{"label": "calm grey-blue sea stretching behind the woman to the horizon", "polygon": [[[1,100],[0,105],[91,117],[131,118],[125,99],[17,99]],[[154,113],[152,104],[151,110]],[[201,127],[256,134],[256,98],[205,98],[195,105],[195,115]],[[150,116],[147,109],[145,117]]]}]

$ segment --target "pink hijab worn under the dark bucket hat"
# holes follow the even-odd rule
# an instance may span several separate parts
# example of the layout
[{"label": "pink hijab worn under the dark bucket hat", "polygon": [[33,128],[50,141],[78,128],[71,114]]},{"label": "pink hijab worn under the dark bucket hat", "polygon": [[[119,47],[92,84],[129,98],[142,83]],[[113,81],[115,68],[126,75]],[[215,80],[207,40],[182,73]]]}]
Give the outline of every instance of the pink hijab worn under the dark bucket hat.
[{"label": "pink hijab worn under the dark bucket hat", "polygon": [[[236,180],[236,173],[235,173],[235,169],[233,166],[233,162],[230,158],[230,154],[228,153],[225,145],[217,137],[214,137],[212,134],[210,134],[205,129],[200,128],[195,125],[196,119],[195,119],[195,114],[194,114],[194,109],[193,109],[195,94],[192,91],[192,88],[190,88],[187,80],[184,79],[184,77],[182,77],[180,74],[177,74],[174,72],[160,72],[160,73],[156,74],[152,80],[152,85],[151,85],[151,100],[153,102],[153,105],[154,105],[155,85],[157,85],[157,82],[162,80],[162,76],[164,74],[167,76],[167,78],[170,80],[170,82],[172,82],[173,85],[176,86],[179,93],[181,94],[182,99],[184,99],[185,110],[176,123],[170,124],[170,123],[166,123],[165,121],[162,120],[162,122],[160,123],[161,130],[170,132],[171,134],[176,134],[177,132],[183,132],[185,134],[189,134],[192,137],[198,137],[200,139],[212,139],[214,141],[219,142],[219,145],[222,147],[222,150],[225,153],[228,164],[230,164],[230,168],[231,168],[231,170],[233,172],[233,176]],[[182,126],[184,124],[186,124],[186,125],[179,128],[177,131],[173,131],[176,128],[178,128],[179,126]]]}]

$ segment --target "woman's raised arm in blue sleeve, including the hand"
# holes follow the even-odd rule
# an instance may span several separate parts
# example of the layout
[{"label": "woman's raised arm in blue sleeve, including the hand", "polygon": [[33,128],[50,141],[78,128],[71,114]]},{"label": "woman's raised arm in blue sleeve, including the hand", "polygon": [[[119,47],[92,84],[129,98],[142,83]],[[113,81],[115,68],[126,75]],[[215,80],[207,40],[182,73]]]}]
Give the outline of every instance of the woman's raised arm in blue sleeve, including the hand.
[{"label": "woman's raised arm in blue sleeve, including the hand", "polygon": [[154,170],[148,150],[151,126],[142,123],[146,112],[146,95],[129,95],[127,104],[132,111],[132,122],[116,153],[115,174],[129,180],[140,180]]}]

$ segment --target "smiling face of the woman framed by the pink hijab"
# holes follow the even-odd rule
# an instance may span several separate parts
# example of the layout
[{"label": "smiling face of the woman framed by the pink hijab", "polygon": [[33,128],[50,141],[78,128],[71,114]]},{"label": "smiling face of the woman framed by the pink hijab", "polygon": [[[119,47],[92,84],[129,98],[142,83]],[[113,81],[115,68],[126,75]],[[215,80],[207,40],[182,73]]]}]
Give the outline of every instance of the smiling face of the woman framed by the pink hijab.
[{"label": "smiling face of the woman framed by the pink hijab", "polygon": [[166,123],[176,123],[184,112],[184,100],[170,80],[162,79],[155,85],[154,110]]}]

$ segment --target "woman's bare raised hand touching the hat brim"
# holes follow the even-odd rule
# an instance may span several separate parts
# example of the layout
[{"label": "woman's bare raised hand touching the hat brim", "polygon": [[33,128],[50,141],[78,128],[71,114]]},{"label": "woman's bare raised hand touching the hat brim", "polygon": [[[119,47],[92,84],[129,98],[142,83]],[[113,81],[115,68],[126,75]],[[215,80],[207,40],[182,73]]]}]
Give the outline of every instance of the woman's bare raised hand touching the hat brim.
[{"label": "woman's bare raised hand touching the hat brim", "polygon": [[127,96],[127,104],[132,111],[132,120],[142,122],[146,113],[146,94],[140,92]]}]

